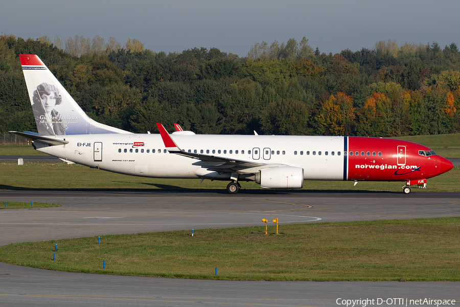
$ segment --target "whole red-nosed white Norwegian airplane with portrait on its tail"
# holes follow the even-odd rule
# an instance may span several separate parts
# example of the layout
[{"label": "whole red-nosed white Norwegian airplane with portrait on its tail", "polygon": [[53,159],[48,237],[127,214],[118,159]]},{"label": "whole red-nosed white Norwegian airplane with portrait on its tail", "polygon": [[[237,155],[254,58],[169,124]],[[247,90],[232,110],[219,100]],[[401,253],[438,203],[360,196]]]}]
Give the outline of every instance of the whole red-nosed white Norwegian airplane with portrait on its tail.
[{"label": "whole red-nosed white Norwegian airplane with portrait on its tail", "polygon": [[363,137],[133,134],[90,119],[36,55],[19,55],[38,134],[13,133],[32,140],[38,151],[133,176],[241,181],[262,188],[302,188],[304,180],[400,181],[410,185],[449,171],[453,165],[412,142]]}]

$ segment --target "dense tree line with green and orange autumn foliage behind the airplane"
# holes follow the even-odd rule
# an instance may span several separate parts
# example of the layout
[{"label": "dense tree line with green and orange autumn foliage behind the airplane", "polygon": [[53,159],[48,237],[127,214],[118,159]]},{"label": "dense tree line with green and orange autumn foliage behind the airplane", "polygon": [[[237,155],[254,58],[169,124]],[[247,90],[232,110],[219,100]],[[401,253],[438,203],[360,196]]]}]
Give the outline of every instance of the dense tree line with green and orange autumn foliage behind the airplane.
[{"label": "dense tree line with green and orange autumn foliage behind the airplane", "polygon": [[173,123],[197,134],[398,137],[460,131],[460,53],[378,41],[320,53],[305,37],[218,49],[153,52],[70,37],[0,36],[0,131],[36,131],[19,54],[37,54],[93,119],[134,133]]}]

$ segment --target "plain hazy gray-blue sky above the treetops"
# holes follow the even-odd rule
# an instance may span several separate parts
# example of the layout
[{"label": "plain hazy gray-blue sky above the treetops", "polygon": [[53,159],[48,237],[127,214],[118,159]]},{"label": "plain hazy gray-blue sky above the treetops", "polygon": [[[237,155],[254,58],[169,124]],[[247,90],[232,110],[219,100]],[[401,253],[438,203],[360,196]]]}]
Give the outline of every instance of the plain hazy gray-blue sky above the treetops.
[{"label": "plain hazy gray-blue sky above the treetops", "polygon": [[195,47],[247,55],[255,42],[309,39],[321,53],[372,49],[379,40],[458,41],[460,2],[443,0],[17,0],[2,4],[0,34],[139,39],[155,52]]}]

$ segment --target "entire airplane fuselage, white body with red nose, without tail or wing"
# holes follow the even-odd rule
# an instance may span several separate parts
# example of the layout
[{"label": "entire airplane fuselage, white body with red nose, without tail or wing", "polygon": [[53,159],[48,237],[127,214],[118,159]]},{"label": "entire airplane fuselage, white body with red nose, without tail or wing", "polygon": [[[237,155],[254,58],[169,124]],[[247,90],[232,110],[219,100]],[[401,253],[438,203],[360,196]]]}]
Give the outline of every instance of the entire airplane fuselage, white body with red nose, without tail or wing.
[{"label": "entire airplane fuselage, white body with red nose, without tail or wing", "polygon": [[[154,178],[208,178],[206,162],[168,152],[158,134],[62,136],[68,144],[37,150],[103,170]],[[364,137],[175,135],[183,151],[304,169],[304,180],[408,181],[451,168],[431,149],[412,142]],[[422,152],[422,153],[421,153]],[[213,168],[215,168],[213,164]],[[224,171],[224,169],[223,169]]]}]

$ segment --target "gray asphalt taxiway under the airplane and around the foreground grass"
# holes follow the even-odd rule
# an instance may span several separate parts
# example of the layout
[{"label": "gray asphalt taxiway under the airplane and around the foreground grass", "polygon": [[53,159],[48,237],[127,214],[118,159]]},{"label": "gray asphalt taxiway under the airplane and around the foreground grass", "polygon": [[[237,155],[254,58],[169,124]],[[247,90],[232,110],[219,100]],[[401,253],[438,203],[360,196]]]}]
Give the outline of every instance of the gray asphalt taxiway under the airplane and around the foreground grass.
[{"label": "gray asphalt taxiway under the airplane and around the foreground grass", "polygon": [[[263,217],[270,220],[275,216],[281,221],[280,227],[299,222],[460,216],[460,193],[417,191],[409,195],[0,191],[0,200],[62,205],[0,210],[0,245],[112,233],[261,225]],[[374,299],[367,305],[405,305],[395,298],[408,299],[408,305],[415,306],[410,299],[455,299],[458,304],[459,289],[457,282],[182,280],[66,273],[0,263],[0,306],[339,306],[346,305],[347,299]]]}]

